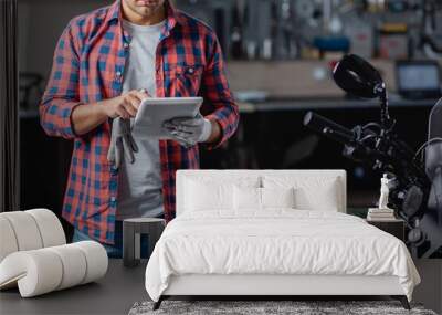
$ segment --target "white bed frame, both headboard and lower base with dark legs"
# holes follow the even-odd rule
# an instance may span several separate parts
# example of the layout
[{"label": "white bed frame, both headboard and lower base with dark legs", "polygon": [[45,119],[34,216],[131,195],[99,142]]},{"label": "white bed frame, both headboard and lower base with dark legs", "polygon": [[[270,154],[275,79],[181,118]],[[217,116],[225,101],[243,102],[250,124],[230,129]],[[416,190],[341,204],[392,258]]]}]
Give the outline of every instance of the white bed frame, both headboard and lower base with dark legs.
[{"label": "white bed frame, both headboard and lower base with dark legs", "polygon": [[[185,209],[186,179],[193,176],[235,177],[263,175],[291,175],[298,177],[332,176],[340,180],[339,212],[346,212],[346,172],[345,170],[179,170],[177,172],[177,216]],[[410,305],[397,276],[365,276],[365,275],[275,275],[275,274],[188,274],[175,275],[159,301],[154,304],[158,309],[161,302],[169,297],[200,296],[229,297],[236,300],[243,296],[254,300],[293,300],[293,297],[355,297],[371,298],[390,296],[399,300],[406,309]]]}]

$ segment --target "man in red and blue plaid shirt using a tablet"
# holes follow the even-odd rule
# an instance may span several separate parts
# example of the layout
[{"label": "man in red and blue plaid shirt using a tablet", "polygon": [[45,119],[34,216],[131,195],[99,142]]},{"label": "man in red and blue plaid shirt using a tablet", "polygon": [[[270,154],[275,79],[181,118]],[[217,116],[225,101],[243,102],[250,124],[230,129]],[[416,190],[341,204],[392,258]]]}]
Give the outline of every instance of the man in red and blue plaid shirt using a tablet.
[{"label": "man in red and blue plaid shirt using a tablet", "polygon": [[[167,122],[171,140],[134,134],[137,150],[119,155],[143,98],[189,96],[203,97],[201,114]],[[123,219],[175,217],[176,170],[198,168],[199,146],[220,146],[239,120],[215,34],[168,0],[118,0],[73,19],[40,115],[48,135],[74,140],[63,203],[74,241],[97,240],[110,256],[122,255]]]}]

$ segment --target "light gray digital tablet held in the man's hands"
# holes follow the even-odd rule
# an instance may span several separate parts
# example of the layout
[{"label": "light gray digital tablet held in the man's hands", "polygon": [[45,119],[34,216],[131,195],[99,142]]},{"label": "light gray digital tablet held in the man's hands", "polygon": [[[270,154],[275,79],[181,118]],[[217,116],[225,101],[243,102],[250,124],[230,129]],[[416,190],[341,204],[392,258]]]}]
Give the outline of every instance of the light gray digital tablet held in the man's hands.
[{"label": "light gray digital tablet held in the man's hands", "polygon": [[200,111],[202,97],[160,97],[141,102],[134,119],[133,133],[138,136],[170,138],[162,129],[166,120],[176,117],[193,118]]}]

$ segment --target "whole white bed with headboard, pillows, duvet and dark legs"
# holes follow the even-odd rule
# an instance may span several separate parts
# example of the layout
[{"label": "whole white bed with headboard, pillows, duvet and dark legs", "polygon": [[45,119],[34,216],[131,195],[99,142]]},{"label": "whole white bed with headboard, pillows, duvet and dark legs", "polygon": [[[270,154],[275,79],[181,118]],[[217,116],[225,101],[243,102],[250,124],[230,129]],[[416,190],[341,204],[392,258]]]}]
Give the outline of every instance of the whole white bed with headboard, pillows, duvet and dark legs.
[{"label": "whole white bed with headboard, pillows, duvet and dark legs", "polygon": [[146,290],[155,307],[171,295],[391,295],[408,307],[420,277],[407,246],[345,210],[343,170],[178,171]]}]

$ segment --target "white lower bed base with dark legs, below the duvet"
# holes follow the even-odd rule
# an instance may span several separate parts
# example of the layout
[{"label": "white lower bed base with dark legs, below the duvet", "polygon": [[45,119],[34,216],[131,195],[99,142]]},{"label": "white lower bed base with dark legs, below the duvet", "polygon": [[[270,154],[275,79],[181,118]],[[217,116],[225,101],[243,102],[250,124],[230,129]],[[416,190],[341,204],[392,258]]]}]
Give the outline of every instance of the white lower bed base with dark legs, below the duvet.
[{"label": "white lower bed base with dark legs, below the duvet", "polygon": [[[397,276],[362,275],[214,275],[189,274],[172,276],[168,288],[154,304],[158,309],[161,302],[170,297],[201,296],[203,298],[238,300],[293,300],[294,297],[339,297],[351,300],[390,296],[399,300],[406,309],[410,304]],[[222,300],[221,298],[221,300]]]}]

